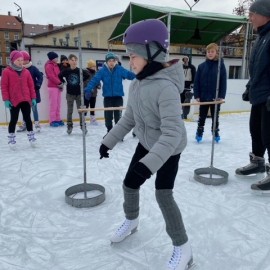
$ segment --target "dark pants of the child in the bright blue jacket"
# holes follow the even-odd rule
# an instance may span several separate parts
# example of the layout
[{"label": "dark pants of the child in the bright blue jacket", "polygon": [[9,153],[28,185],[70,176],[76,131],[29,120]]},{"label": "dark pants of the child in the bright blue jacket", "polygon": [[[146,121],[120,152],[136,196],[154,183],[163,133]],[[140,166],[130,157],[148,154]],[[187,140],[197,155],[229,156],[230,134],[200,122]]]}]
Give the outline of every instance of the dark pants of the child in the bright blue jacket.
[{"label": "dark pants of the child in the bright blue jacket", "polygon": [[[123,106],[122,97],[105,97],[103,100],[104,108]],[[113,127],[113,119],[116,124],[122,116],[122,111],[104,111],[105,126],[109,132]]]}]

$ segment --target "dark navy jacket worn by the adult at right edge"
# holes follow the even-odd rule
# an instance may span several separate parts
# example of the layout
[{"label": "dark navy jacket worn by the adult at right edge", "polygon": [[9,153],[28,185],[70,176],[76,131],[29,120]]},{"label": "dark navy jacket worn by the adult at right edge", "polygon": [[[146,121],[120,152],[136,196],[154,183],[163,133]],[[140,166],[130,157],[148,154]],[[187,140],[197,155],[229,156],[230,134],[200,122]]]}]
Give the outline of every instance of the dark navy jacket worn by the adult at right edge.
[{"label": "dark navy jacket worn by the adult at right edge", "polygon": [[270,96],[270,22],[258,29],[250,62],[249,99],[252,105],[266,102]]}]

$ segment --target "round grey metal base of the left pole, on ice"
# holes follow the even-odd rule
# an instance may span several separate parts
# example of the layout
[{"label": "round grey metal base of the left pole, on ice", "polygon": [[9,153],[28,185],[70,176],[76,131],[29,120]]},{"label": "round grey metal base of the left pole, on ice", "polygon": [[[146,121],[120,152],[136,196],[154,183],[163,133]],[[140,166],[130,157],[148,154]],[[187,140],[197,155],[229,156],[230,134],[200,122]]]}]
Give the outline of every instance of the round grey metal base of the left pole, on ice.
[{"label": "round grey metal base of the left pole, on ice", "polygon": [[[97,192],[98,194],[90,197],[88,196],[89,192]],[[78,208],[93,207],[105,201],[105,188],[98,184],[75,185],[65,191],[65,201]]]}]

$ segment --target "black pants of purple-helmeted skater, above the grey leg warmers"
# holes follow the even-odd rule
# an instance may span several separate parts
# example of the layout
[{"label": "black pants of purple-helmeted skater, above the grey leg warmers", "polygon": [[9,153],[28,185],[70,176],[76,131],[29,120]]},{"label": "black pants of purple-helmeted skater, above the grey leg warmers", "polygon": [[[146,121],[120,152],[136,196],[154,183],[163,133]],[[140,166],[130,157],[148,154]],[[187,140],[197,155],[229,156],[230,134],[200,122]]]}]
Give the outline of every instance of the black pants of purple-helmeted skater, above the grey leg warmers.
[{"label": "black pants of purple-helmeted skater, above the grey leg warmers", "polygon": [[[134,179],[134,177],[129,177],[129,174],[132,173],[131,168],[135,165],[135,163],[140,161],[140,159],[142,159],[146,154],[148,154],[148,151],[139,143],[130,162],[126,177],[124,179],[124,184],[126,187],[138,189],[145,182],[145,180],[143,182],[141,182],[140,180],[134,182],[134,180],[132,180],[131,182],[130,180]],[[179,160],[180,154],[171,156],[157,171],[155,181],[156,189],[173,189],[175,177],[178,172]]]}]

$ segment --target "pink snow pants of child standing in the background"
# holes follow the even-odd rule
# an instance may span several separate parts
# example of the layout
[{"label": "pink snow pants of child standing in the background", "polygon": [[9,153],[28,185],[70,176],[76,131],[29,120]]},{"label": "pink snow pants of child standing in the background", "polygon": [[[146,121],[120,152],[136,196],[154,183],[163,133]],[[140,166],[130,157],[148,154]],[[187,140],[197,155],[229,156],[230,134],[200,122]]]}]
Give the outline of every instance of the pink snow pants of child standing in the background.
[{"label": "pink snow pants of child standing in the background", "polygon": [[61,121],[61,93],[58,87],[48,87],[49,103],[50,103],[50,123],[54,121]]}]

